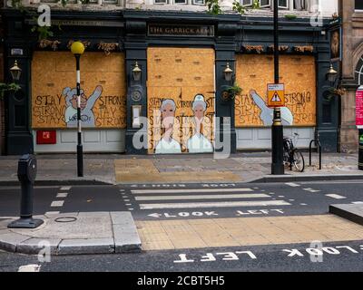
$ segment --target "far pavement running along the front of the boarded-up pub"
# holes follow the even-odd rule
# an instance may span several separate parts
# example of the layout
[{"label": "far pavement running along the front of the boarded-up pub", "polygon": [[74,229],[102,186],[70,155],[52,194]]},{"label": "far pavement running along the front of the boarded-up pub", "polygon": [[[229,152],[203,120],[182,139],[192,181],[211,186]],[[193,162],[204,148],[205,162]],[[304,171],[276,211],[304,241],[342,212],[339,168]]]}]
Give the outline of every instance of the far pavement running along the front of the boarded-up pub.
[{"label": "far pavement running along the front of the boarded-up pub", "polygon": [[[211,154],[144,155],[85,154],[84,177],[76,177],[74,154],[37,155],[36,185],[97,185],[130,183],[198,182],[288,182],[327,179],[363,179],[358,170],[358,154],[323,153],[322,169],[318,155],[304,153],[306,169],[300,173],[285,170],[283,176],[270,175],[270,152],[236,153],[228,159]],[[16,156],[0,157],[0,185],[17,185]]]}]

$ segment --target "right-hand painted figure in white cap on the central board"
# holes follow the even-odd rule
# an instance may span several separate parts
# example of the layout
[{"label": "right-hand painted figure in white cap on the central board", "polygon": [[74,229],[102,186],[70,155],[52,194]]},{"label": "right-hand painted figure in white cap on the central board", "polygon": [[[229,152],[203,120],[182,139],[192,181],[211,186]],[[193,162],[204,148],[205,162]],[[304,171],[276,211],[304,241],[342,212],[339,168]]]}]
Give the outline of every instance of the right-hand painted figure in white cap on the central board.
[{"label": "right-hand painted figure in white cap on the central board", "polygon": [[187,142],[187,149],[190,153],[212,152],[213,146],[211,141],[202,134],[202,124],[204,121],[204,113],[207,110],[207,103],[204,101],[204,96],[197,94],[194,97],[194,102],[191,104],[191,109],[194,111],[193,122],[195,125],[195,133]]}]

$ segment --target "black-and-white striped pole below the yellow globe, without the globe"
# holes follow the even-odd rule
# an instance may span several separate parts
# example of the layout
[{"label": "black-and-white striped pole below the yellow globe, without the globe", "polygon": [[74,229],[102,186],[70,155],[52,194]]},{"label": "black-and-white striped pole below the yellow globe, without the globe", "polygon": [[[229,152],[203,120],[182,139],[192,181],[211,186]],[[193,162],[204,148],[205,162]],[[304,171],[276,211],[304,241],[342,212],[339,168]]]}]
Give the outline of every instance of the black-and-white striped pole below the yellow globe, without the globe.
[{"label": "black-and-white striped pole below the yellow globe, without the globe", "polygon": [[77,175],[83,177],[83,145],[82,145],[82,124],[81,124],[81,72],[80,54],[75,54],[77,73]]}]

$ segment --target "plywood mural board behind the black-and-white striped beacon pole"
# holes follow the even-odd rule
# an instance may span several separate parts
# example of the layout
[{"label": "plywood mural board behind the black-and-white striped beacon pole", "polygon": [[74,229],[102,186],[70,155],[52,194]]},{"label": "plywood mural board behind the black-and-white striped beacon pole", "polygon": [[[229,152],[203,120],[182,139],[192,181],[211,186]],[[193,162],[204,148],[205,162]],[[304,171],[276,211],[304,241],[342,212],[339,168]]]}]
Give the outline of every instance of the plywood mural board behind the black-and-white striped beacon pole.
[{"label": "plywood mural board behind the black-and-white striped beacon pole", "polygon": [[[47,67],[44,67],[47,63]],[[126,127],[122,53],[84,53],[81,58],[81,121],[85,128]],[[36,52],[32,63],[32,127],[77,126],[75,61],[70,53]]]}]

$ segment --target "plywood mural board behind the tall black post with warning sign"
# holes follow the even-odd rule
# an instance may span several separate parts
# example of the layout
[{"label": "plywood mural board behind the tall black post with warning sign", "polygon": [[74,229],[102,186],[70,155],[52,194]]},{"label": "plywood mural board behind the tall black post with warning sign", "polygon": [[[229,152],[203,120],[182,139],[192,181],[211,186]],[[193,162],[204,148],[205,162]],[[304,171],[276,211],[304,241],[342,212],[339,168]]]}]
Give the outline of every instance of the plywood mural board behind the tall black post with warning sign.
[{"label": "plywood mural board behind the tall black post with warning sign", "polygon": [[[236,127],[271,126],[273,109],[267,107],[267,84],[273,81],[273,58],[238,55],[236,80],[243,92],[235,99]],[[285,83],[284,126],[316,125],[316,78],[313,56],[280,56],[280,82]]]}]

